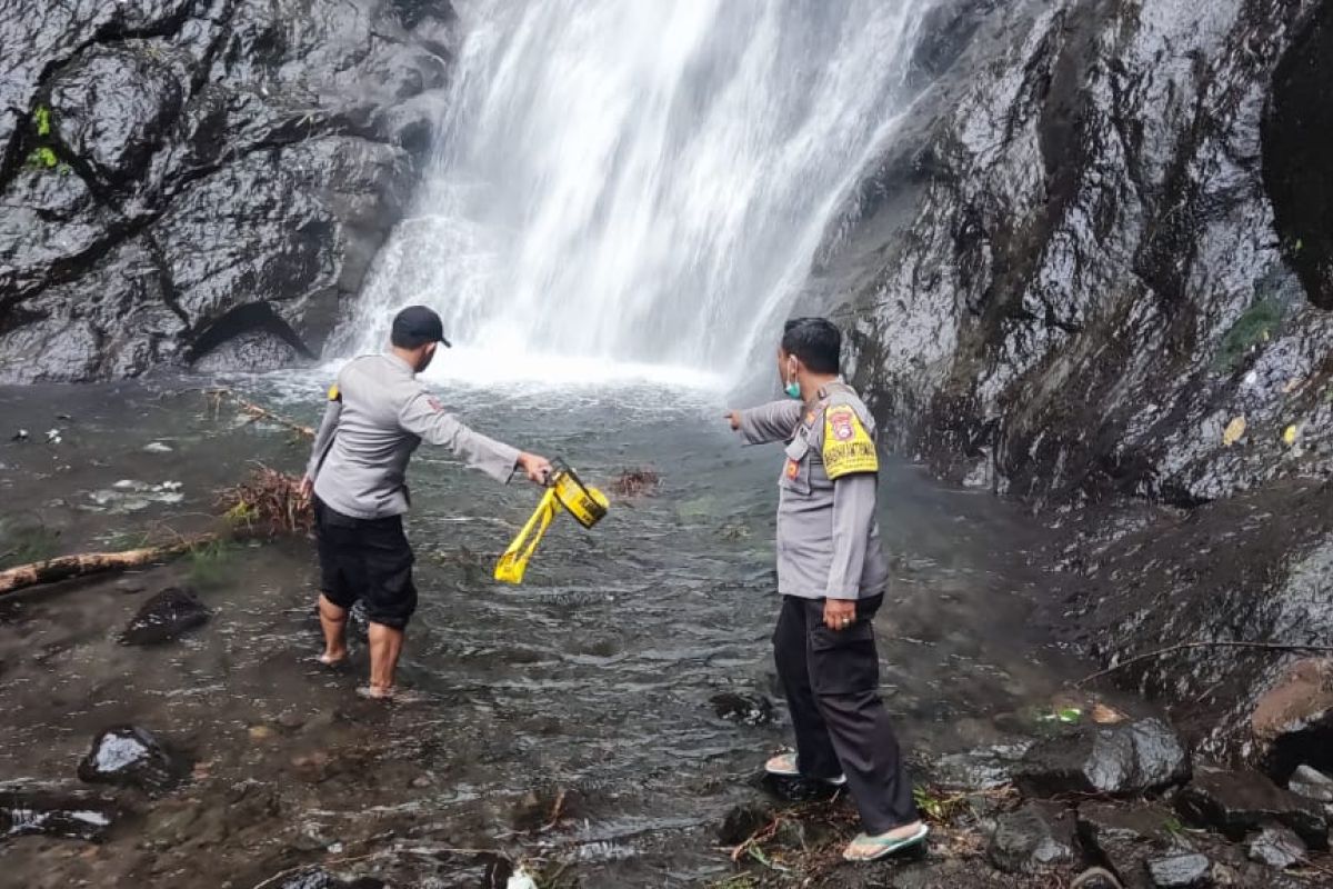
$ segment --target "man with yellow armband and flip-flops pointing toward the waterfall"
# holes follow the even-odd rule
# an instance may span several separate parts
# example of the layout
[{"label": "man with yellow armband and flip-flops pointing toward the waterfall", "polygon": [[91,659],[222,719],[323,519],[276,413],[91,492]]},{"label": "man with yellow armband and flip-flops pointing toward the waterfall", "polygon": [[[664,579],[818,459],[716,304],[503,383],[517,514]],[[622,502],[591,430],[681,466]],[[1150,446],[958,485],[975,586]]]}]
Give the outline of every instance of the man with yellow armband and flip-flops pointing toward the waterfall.
[{"label": "man with yellow armband and flip-flops pointing toward the waterfall", "polygon": [[824,319],[786,323],[778,375],[788,401],[728,415],[748,444],[786,443],[778,480],[777,674],[796,754],[770,774],[845,784],[865,833],[844,852],[873,861],[925,840],[897,740],[880,700],[874,613],[889,568],[874,518],[874,421],[838,377],[842,337]]}]

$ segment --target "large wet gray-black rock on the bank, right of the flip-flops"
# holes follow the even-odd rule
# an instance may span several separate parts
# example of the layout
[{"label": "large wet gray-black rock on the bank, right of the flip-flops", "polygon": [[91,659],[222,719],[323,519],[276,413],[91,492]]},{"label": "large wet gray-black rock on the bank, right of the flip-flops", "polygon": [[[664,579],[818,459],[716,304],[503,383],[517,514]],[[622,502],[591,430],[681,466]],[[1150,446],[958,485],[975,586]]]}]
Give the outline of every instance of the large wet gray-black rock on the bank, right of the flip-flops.
[{"label": "large wet gray-black rock on the bank, right of the flip-flops", "polygon": [[1150,718],[1082,726],[1038,741],[1014,769],[1014,784],[1032,796],[1102,793],[1136,796],[1189,777],[1189,757],[1169,726]]}]

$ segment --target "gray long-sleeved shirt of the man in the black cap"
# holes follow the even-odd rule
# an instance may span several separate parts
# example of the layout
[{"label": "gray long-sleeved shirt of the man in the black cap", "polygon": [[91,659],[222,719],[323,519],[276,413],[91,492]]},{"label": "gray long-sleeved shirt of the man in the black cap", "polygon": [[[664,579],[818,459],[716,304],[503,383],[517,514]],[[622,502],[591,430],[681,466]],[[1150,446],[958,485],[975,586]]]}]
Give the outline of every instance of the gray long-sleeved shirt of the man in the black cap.
[{"label": "gray long-sleeved shirt of the man in the black cap", "polygon": [[408,510],[404,476],[421,441],[444,445],[501,482],[519,461],[516,448],[448,413],[407,361],[368,355],[337,375],[305,474],[315,480],[315,494],[345,516],[399,516]]}]

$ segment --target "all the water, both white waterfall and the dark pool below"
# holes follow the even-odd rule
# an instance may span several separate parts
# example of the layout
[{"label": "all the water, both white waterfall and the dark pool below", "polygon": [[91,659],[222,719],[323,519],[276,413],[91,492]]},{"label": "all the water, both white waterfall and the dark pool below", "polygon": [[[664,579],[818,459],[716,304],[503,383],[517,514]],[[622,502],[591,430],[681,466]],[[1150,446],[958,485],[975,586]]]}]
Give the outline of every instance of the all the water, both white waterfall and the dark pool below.
[{"label": "all the water, both white waterfall and the dark pool below", "polygon": [[[305,540],[0,601],[0,789],[69,788],[119,722],[195,765],[163,800],[123,794],[103,846],[0,837],[0,882],[249,886],[331,862],[473,886],[501,854],[564,862],[587,886],[728,873],[716,825],[788,738],[768,648],[780,454],[740,448],[716,387],[768,365],[756,344],[892,137],[926,7],[464,4],[433,175],[343,343],[379,349],[393,308],[433,305],[461,347],[435,381],[472,425],[603,486],[652,468],[660,490],[616,498],[593,532],[561,521],[528,582],[501,586],[491,565],[537,492],[421,450],[403,673],[425,702],[411,708],[353,694],[360,645],[349,674],[311,664]],[[233,384],[315,423],[331,375]],[[189,532],[251,461],[300,470],[307,444],[215,415],[188,388],[201,383],[0,391],[0,432],[31,433],[0,444],[7,538],[43,529],[23,538],[36,557]],[[881,489],[884,694],[913,760],[1030,732],[1074,669],[1028,625],[1038,532],[910,465],[888,462]],[[177,582],[209,624],[117,645]]]}]

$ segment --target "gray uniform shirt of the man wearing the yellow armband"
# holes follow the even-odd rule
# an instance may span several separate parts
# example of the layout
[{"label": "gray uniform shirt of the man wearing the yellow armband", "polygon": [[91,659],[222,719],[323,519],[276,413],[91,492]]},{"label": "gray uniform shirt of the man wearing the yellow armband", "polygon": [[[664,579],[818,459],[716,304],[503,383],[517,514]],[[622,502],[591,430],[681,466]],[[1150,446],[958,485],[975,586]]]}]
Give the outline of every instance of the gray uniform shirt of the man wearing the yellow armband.
[{"label": "gray uniform shirt of the man wearing the yellow armband", "polygon": [[873,448],[874,420],[842,384],[821,391],[810,404],[773,401],[741,412],[746,443],[786,443],[777,506],[777,592],[784,596],[864,598],[889,584],[874,517],[877,472],[830,480],[824,465],[826,412],[840,407],[856,413]]}]

